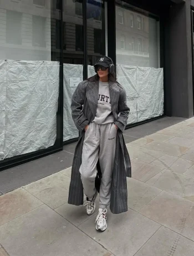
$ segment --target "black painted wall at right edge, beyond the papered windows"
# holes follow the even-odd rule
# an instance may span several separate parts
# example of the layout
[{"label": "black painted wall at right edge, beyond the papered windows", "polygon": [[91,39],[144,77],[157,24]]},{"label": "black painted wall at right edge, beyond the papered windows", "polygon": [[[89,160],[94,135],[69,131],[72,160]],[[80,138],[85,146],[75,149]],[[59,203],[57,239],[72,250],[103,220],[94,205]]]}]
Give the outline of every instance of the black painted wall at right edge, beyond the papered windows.
[{"label": "black painted wall at right edge, beyond the papered windows", "polygon": [[193,116],[191,6],[172,3],[165,20],[166,115]]}]

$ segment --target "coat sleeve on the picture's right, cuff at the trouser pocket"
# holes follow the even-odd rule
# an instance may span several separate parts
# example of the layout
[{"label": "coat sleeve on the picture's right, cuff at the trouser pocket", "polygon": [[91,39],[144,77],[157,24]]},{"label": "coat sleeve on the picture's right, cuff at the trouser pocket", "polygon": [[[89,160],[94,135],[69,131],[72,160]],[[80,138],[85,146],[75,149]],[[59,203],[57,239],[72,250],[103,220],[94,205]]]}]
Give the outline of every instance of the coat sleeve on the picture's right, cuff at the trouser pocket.
[{"label": "coat sleeve on the picture's right, cuff at the trouser pocket", "polygon": [[130,111],[129,107],[126,105],[126,91],[124,88],[122,88],[120,92],[118,110],[120,112],[120,116],[118,119],[116,119],[115,125],[117,125],[119,129],[124,132]]}]

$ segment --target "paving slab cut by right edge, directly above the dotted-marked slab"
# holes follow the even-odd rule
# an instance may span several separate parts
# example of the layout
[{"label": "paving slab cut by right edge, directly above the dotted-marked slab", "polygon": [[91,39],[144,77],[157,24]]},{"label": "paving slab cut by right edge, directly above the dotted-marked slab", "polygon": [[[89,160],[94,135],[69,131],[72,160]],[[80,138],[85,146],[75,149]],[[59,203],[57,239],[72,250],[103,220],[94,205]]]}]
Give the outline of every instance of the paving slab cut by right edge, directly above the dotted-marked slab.
[{"label": "paving slab cut by right edge, directly above the dotted-marked slab", "polygon": [[194,203],[162,191],[140,213],[194,241]]}]

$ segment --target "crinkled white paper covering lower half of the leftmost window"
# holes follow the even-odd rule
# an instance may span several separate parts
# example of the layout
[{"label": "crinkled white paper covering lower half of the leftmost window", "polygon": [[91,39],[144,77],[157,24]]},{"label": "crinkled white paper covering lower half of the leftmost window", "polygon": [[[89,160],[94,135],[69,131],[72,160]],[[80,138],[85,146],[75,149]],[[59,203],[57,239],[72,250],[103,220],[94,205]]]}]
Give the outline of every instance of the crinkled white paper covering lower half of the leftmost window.
[{"label": "crinkled white paper covering lower half of the leftmost window", "polygon": [[0,60],[0,159],[53,146],[59,62]]}]

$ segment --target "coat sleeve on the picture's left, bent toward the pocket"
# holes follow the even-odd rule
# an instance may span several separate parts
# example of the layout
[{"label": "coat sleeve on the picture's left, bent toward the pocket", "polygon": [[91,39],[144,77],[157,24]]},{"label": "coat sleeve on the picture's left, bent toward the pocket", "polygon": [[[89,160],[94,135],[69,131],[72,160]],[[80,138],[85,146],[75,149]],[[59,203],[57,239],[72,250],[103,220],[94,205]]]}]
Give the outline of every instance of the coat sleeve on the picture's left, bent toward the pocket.
[{"label": "coat sleeve on the picture's left, bent toward the pocket", "polygon": [[89,121],[84,116],[82,112],[83,104],[85,100],[85,86],[84,83],[79,83],[78,87],[76,87],[75,92],[72,96],[72,118],[74,121],[75,126],[79,131],[83,131],[84,127],[88,125]]}]

